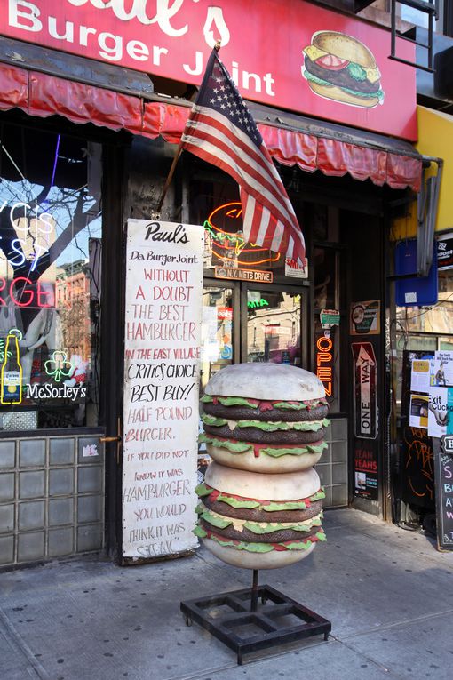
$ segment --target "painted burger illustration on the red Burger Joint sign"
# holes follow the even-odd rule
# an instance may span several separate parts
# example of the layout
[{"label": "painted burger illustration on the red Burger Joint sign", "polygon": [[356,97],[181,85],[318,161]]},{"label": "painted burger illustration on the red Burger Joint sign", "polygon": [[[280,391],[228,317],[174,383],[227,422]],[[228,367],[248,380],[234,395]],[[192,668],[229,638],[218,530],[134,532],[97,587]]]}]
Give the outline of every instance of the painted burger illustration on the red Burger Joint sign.
[{"label": "painted burger illustration on the red Burger Joint sign", "polygon": [[337,31],[318,31],[303,52],[302,76],[315,94],[363,108],[384,102],[376,60],[360,40]]}]

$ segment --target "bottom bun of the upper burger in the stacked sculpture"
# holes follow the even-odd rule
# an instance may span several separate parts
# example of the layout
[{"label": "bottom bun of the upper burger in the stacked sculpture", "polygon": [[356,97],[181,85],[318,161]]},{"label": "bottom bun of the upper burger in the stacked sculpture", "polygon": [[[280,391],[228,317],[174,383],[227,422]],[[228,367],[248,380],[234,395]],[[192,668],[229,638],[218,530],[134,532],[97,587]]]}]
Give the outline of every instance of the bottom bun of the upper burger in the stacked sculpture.
[{"label": "bottom bun of the upper burger in the stacked sculpture", "polygon": [[301,453],[292,455],[290,453],[274,458],[260,453],[258,458],[252,451],[245,453],[231,453],[227,449],[222,449],[213,444],[206,444],[206,451],[213,460],[227,468],[240,470],[250,470],[250,472],[267,472],[275,474],[278,472],[297,472],[312,468],[322,456],[321,453]]}]

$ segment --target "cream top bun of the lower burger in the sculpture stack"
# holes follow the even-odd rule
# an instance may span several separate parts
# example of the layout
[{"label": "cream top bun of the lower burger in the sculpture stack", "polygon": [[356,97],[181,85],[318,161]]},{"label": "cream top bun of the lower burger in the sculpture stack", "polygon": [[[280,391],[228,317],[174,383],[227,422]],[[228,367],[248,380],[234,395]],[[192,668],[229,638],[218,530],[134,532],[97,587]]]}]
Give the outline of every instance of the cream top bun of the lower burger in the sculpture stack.
[{"label": "cream top bun of the lower burger in the sculpture stack", "polygon": [[226,468],[211,462],[204,476],[206,484],[219,492],[258,500],[299,500],[313,496],[321,482],[314,468],[288,474],[268,475]]}]

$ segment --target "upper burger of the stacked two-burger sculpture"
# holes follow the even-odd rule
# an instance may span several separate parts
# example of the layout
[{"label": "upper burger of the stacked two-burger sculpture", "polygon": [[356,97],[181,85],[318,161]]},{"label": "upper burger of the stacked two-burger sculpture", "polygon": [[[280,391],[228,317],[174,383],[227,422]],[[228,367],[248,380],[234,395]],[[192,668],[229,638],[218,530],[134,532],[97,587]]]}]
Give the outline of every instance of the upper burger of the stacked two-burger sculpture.
[{"label": "upper burger of the stacked two-burger sculpture", "polygon": [[227,366],[209,381],[202,407],[200,440],[213,460],[230,468],[303,470],[314,466],[327,446],[322,382],[294,366]]}]

